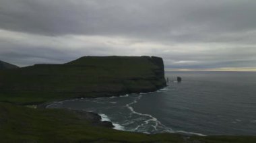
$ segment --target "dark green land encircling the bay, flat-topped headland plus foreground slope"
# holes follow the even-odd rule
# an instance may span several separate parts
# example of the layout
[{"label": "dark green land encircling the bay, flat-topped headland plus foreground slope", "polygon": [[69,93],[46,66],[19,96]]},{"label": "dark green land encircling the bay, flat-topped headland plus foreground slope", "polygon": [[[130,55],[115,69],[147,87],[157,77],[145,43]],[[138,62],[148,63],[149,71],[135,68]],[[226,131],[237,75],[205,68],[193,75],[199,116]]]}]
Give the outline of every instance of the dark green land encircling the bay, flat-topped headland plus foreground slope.
[{"label": "dark green land encircling the bay, flat-topped headland plus foreground slope", "polygon": [[[84,56],[18,68],[0,62],[1,142],[255,142],[255,136],[187,136],[113,130],[96,113],[45,109],[53,101],[157,91],[166,86],[156,56]],[[36,109],[35,109],[36,108]]]}]

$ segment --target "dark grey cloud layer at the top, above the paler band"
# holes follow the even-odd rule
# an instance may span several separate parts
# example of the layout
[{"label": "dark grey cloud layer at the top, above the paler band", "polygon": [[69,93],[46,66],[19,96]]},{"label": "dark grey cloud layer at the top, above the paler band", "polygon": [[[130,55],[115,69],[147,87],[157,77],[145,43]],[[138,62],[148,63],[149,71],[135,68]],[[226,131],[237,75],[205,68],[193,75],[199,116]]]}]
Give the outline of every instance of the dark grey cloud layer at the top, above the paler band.
[{"label": "dark grey cloud layer at the top, above the paler band", "polygon": [[206,40],[255,30],[255,1],[1,0],[0,27],[36,34]]}]

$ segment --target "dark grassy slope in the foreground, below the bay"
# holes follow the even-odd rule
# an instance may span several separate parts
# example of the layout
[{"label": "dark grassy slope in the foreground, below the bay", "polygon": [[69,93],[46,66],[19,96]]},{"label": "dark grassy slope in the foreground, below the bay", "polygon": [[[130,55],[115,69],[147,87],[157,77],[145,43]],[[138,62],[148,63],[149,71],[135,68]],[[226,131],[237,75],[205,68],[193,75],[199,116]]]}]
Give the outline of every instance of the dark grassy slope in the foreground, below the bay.
[{"label": "dark grassy slope in the foreground, below the bay", "polygon": [[0,103],[1,142],[247,142],[249,136],[182,136],[139,134],[94,126],[81,115],[63,109],[32,109]]}]

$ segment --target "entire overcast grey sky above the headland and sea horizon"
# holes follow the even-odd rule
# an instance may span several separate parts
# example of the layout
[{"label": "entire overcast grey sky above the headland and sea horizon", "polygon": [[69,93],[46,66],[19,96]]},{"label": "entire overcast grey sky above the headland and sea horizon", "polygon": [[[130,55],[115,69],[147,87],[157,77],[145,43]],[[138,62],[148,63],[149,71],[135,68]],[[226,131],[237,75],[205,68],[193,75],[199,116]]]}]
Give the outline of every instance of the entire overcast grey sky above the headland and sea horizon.
[{"label": "entire overcast grey sky above the headland and sea horizon", "polygon": [[255,0],[0,0],[0,60],[160,56],[167,70],[256,71]]}]

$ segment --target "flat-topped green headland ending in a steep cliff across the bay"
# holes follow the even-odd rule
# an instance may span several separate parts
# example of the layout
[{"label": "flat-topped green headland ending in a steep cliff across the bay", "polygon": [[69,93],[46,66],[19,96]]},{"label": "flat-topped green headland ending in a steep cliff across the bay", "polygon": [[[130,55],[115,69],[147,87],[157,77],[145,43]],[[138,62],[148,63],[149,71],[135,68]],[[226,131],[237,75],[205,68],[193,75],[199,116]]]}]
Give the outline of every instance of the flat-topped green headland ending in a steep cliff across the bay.
[{"label": "flat-topped green headland ending in a steep cliff across the bay", "polygon": [[14,103],[117,96],[164,86],[164,63],[154,56],[85,56],[0,71],[0,101]]}]

